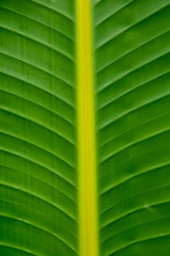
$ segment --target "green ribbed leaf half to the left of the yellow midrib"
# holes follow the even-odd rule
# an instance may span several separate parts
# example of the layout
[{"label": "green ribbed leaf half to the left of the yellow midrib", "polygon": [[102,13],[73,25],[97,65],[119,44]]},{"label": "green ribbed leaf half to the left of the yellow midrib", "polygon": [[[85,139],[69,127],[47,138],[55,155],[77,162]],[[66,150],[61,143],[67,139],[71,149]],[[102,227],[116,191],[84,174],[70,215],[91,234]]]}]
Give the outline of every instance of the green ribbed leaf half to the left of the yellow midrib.
[{"label": "green ribbed leaf half to the left of the yellow midrib", "polygon": [[0,1],[0,255],[77,255],[74,0]]}]

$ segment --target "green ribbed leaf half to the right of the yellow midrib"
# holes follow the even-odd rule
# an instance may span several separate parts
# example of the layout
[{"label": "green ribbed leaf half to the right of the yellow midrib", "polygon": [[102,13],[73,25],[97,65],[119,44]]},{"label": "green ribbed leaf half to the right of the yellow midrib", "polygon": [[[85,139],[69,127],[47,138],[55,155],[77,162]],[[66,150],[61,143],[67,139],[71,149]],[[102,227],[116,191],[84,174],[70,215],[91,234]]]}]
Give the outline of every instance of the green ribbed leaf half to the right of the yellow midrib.
[{"label": "green ribbed leaf half to the right of the yellow midrib", "polygon": [[101,256],[170,252],[170,1],[93,1]]}]

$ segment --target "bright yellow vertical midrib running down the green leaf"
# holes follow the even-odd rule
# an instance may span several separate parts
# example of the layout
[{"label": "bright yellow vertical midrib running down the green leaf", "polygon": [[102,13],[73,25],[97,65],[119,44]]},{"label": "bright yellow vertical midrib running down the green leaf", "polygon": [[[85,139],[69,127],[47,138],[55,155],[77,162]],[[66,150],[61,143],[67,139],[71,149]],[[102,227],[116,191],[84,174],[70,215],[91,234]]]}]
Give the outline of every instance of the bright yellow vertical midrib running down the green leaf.
[{"label": "bright yellow vertical midrib running down the green leaf", "polygon": [[90,0],[77,0],[77,118],[80,256],[98,256],[92,45]]}]

